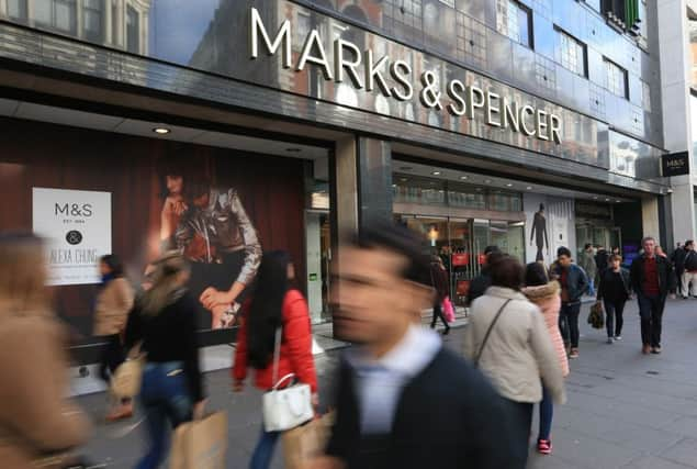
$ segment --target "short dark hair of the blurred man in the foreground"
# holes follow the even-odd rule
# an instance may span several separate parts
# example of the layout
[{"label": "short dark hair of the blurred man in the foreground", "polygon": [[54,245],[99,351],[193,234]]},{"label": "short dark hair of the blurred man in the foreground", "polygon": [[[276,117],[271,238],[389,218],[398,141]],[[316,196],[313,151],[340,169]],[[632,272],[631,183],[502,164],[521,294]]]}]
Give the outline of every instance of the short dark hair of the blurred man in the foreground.
[{"label": "short dark hair of the blurred man in the foreground", "polygon": [[402,278],[431,287],[430,257],[424,254],[421,239],[409,228],[374,221],[353,236],[353,245],[362,249],[387,249],[405,257],[408,263],[400,272]]}]

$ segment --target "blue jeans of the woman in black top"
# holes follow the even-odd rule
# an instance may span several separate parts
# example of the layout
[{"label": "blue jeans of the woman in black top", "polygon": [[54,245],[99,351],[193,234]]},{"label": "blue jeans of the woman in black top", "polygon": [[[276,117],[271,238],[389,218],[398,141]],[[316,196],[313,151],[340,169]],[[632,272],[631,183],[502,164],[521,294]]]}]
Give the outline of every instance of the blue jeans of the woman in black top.
[{"label": "blue jeans of the woman in black top", "polygon": [[167,457],[170,428],[191,420],[193,406],[187,384],[180,361],[145,366],[140,401],[150,446],[137,469],[159,467]]}]

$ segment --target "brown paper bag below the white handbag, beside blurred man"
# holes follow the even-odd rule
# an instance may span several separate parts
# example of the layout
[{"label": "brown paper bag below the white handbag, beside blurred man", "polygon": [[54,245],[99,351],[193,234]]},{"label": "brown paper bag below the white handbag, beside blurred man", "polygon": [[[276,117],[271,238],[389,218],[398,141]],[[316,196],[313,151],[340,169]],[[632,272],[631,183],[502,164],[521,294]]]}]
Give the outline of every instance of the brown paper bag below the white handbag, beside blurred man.
[{"label": "brown paper bag below the white handbag, beside blurred man", "polygon": [[283,432],[283,459],[285,469],[305,469],[313,458],[322,456],[329,440],[334,413],[310,421]]}]

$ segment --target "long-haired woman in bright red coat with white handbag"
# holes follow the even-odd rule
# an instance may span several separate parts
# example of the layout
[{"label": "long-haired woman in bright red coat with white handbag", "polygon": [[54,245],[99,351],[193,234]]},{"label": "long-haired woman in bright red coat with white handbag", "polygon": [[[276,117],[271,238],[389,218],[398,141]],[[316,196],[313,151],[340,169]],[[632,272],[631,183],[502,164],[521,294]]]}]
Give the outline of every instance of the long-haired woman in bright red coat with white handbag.
[{"label": "long-haired woman in bright red coat with white handbag", "polygon": [[[310,384],[316,405],[317,375],[312,355],[310,312],[302,293],[290,287],[294,277],[288,253],[271,252],[263,255],[254,299],[237,337],[234,389],[236,392],[243,390],[248,368],[255,369],[257,388],[262,391],[273,388],[276,331],[281,327],[278,378],[294,373],[297,381]],[[280,433],[261,429],[261,437],[249,464],[251,469],[269,467],[279,436]]]}]

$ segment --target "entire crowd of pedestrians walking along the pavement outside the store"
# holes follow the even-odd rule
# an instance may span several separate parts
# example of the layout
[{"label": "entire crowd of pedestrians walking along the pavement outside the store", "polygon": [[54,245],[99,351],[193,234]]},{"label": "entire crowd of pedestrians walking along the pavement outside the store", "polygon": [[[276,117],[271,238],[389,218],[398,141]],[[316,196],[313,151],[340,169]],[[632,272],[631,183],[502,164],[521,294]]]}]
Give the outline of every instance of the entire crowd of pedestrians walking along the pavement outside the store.
[{"label": "entire crowd of pedestrians walking along the pavement outside the store", "polygon": [[[0,235],[0,458],[16,469],[88,467],[77,454],[90,425],[64,398],[66,337],[50,313],[46,271],[36,267],[43,266],[42,247],[33,235]],[[565,402],[569,360],[580,356],[584,295],[594,295],[594,308],[604,312],[608,344],[622,338],[625,305],[636,297],[643,354],[662,351],[666,298],[674,291],[697,297],[692,241],[668,258],[647,237],[630,270],[618,249],[586,245],[578,265],[567,248],[557,254],[551,266],[522,266],[495,246],[486,248],[458,354],[432,331],[438,320],[443,334],[450,330],[449,280],[440,258],[424,256],[418,237],[391,224],[375,223],[345,242],[334,272],[334,327],[353,346],[335,370],[331,418],[324,425],[307,303],[294,287],[289,255],[265,253],[238,317],[231,382],[243,392],[252,376],[265,392],[249,467],[268,468],[279,439],[290,445],[291,436],[301,435],[314,440],[315,450],[297,467],[524,469],[536,404],[536,447],[551,454],[554,406]],[[112,390],[106,418],[132,416],[137,399],[148,445],[136,467],[160,467],[168,456],[170,462],[183,458],[181,468],[199,467],[195,457],[224,460],[224,444],[217,453],[212,446],[224,431],[193,437],[211,410],[188,263],[175,252],[164,255],[137,291],[116,256],[104,256],[100,271],[94,334],[105,343],[100,376]],[[434,311],[431,328],[420,324],[427,309]],[[124,381],[127,365],[138,370],[131,381]],[[121,392],[124,382],[135,382],[137,393]],[[192,442],[204,449],[182,456],[192,451]],[[299,451],[303,445],[308,443],[299,444]],[[284,454],[288,461],[289,448]]]}]

